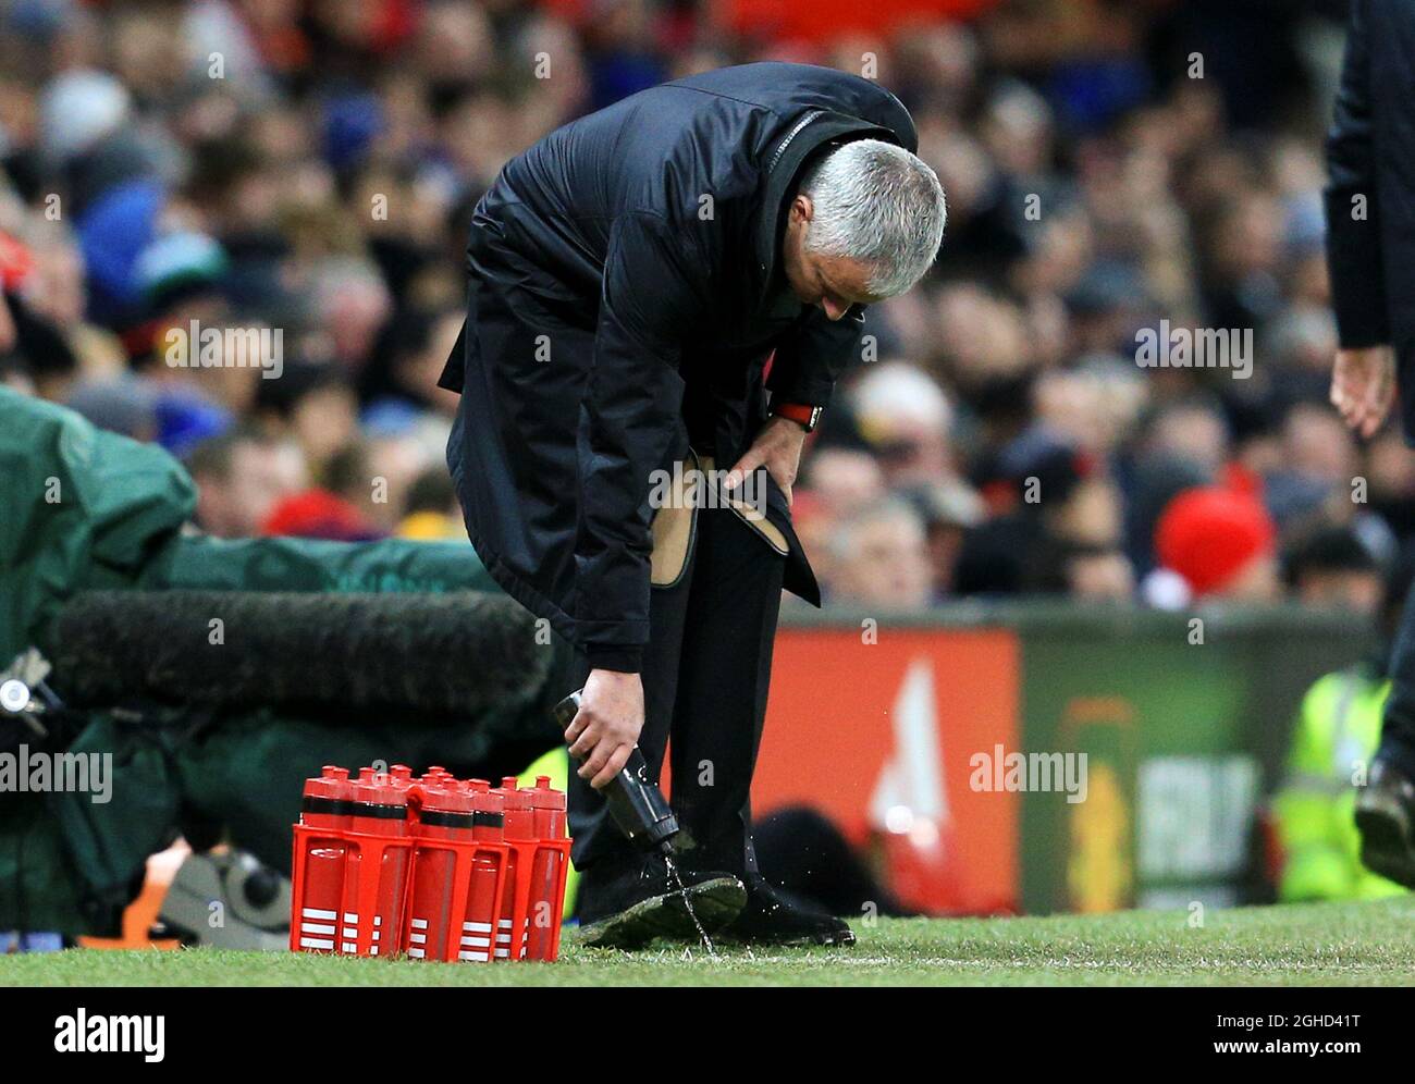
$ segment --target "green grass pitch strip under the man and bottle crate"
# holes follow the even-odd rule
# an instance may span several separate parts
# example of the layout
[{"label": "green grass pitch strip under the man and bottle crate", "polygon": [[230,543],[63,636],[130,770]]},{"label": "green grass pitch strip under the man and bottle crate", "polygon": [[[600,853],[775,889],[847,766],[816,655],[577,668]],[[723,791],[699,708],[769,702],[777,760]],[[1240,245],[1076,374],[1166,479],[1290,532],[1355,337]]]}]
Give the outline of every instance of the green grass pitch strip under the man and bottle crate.
[{"label": "green grass pitch strip under the man and bottle crate", "polygon": [[1415,897],[1373,903],[1043,918],[856,923],[848,950],[657,944],[590,950],[566,930],[556,964],[423,964],[291,952],[0,957],[0,985],[614,986],[614,985],[1415,985]]}]

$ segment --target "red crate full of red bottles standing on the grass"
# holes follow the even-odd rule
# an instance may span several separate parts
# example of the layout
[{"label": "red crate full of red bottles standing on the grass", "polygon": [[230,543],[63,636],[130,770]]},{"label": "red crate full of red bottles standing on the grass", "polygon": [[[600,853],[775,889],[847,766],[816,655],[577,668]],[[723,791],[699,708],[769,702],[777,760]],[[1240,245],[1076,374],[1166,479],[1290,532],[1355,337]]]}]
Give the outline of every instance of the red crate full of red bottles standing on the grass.
[{"label": "red crate full of red bottles standing on the grass", "polygon": [[555,959],[570,841],[549,778],[516,788],[395,764],[328,766],[294,825],[290,948],[488,962]]}]

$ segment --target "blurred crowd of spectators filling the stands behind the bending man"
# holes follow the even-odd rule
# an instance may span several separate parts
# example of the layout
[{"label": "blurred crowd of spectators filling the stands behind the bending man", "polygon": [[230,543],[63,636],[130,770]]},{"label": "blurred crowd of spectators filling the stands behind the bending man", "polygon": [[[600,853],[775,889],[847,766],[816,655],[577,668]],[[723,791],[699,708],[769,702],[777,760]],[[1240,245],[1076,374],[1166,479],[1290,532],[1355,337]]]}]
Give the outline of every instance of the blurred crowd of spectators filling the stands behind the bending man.
[{"label": "blurred crowd of spectators filling the stands behind the bending man", "polygon": [[[466,538],[434,382],[497,170],[664,79],[829,64],[910,108],[949,221],[808,444],[828,599],[1370,611],[1415,461],[1326,400],[1343,6],[811,7],[3,3],[0,381],[161,442],[215,535]],[[174,330],[231,327],[279,330],[279,374],[174,362]],[[1174,328],[1247,333],[1249,364],[1138,364]]]}]

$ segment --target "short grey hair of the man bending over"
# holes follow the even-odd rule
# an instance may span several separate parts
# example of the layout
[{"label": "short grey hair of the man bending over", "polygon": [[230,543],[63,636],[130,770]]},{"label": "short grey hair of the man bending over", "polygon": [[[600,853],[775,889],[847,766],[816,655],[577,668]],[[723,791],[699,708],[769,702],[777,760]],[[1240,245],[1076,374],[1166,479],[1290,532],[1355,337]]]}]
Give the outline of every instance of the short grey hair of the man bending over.
[{"label": "short grey hair of the man bending over", "polygon": [[944,185],[916,154],[877,139],[826,153],[801,181],[815,209],[805,248],[872,267],[869,289],[904,293],[938,256],[944,239]]}]

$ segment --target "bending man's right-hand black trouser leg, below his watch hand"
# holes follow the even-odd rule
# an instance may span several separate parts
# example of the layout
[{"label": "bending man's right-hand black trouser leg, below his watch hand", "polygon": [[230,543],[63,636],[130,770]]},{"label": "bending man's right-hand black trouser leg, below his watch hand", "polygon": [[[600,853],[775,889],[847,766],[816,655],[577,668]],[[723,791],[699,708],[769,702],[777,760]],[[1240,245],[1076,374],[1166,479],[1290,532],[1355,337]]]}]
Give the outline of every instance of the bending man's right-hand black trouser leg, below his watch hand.
[{"label": "bending man's right-hand black trouser leg, below his watch hand", "polygon": [[761,746],[785,558],[729,509],[703,509],[669,756],[685,865],[756,875],[751,775]]}]

